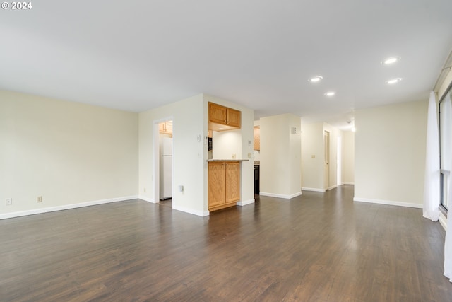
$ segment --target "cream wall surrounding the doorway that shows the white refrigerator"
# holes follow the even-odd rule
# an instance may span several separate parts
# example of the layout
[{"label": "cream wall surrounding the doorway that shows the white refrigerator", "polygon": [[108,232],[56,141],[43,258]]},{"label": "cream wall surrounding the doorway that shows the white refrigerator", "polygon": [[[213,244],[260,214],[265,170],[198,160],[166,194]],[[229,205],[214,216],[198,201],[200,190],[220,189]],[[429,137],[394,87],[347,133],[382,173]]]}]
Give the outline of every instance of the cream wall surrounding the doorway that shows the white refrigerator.
[{"label": "cream wall surrounding the doorway that shows the white refrigerator", "polygon": [[[203,95],[180,100],[179,102],[141,112],[139,114],[139,194],[150,202],[159,202],[158,122],[173,120],[173,208],[204,216],[204,161],[207,146],[204,144],[204,120],[206,111]],[[201,141],[198,141],[201,136]],[[158,145],[157,145],[158,146]],[[158,149],[158,148],[157,148]],[[184,192],[179,192],[179,185]]]}]

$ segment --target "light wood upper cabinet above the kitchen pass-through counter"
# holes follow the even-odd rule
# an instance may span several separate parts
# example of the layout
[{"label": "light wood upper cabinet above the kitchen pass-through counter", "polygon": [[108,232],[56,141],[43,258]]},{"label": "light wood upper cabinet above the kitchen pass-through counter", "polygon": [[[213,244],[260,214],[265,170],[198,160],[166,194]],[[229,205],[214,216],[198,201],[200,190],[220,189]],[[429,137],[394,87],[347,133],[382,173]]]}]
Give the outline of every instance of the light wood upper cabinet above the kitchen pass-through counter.
[{"label": "light wood upper cabinet above the kitchen pass-through counter", "polygon": [[224,131],[240,129],[242,112],[215,103],[209,103],[209,129]]}]

